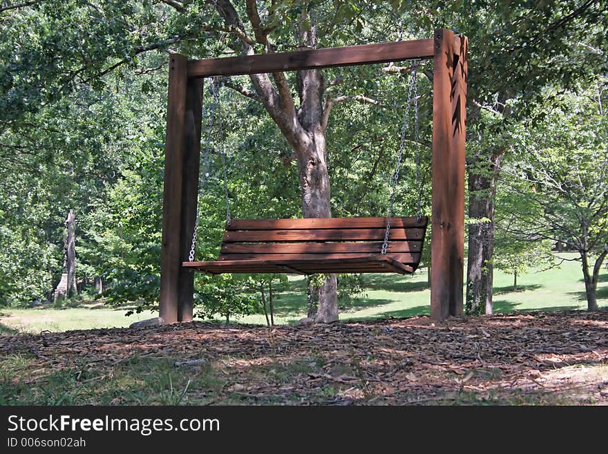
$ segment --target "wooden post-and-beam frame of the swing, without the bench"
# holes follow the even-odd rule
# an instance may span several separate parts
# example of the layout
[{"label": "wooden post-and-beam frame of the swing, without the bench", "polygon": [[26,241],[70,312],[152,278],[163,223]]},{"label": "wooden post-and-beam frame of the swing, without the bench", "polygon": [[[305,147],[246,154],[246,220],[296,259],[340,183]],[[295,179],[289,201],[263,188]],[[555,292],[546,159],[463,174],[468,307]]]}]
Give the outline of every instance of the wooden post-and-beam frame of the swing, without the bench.
[{"label": "wooden post-and-beam frame of the swing, without the bench", "polygon": [[467,39],[441,28],[433,39],[415,41],[190,61],[171,55],[160,253],[160,316],[166,323],[193,316],[194,276],[181,264],[196,218],[202,78],[407,59],[434,62],[430,313],[435,320],[462,314]]}]

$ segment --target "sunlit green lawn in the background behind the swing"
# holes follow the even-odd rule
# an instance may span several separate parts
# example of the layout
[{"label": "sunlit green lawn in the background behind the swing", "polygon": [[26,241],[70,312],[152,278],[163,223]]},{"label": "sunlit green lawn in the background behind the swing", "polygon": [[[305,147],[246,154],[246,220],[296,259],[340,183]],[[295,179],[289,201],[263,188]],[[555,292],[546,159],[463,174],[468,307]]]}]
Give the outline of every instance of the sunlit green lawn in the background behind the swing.
[{"label": "sunlit green lawn in the background behind the swing", "polygon": [[[562,256],[573,258],[575,255]],[[560,268],[519,276],[517,281],[520,291],[513,292],[513,276],[495,272],[495,312],[585,309],[587,301],[581,280],[580,263],[564,262]],[[365,296],[341,308],[341,319],[428,314],[430,291],[426,288],[426,269],[420,269],[414,276],[372,274],[366,277],[366,281],[368,290],[365,291]],[[302,278],[291,278],[289,292],[276,296],[276,323],[293,323],[305,316],[304,285]],[[602,269],[600,276],[598,299],[600,306],[608,304],[608,272],[605,269]],[[123,327],[133,321],[155,316],[147,311],[126,317],[124,312],[124,309],[106,308],[99,304],[62,309],[5,309],[0,310],[0,332]],[[244,316],[238,321],[265,324],[262,314]]]}]

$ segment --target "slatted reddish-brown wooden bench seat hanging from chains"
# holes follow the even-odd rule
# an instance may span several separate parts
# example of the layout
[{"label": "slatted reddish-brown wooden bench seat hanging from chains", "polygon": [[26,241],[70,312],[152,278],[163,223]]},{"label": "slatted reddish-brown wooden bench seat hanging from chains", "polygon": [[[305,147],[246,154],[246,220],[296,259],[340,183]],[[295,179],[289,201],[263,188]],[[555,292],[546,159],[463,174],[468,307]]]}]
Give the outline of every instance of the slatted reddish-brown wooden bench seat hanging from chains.
[{"label": "slatted reddish-brown wooden bench seat hanging from chains", "polygon": [[184,262],[221,273],[399,273],[420,263],[428,218],[234,219],[227,225],[217,261]]}]

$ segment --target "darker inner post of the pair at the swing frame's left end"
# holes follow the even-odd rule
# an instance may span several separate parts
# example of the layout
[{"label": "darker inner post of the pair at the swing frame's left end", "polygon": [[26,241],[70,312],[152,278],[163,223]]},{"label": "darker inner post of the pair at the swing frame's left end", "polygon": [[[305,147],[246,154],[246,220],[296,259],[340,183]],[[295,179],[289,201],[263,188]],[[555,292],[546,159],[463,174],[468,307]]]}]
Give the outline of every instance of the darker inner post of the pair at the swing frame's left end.
[{"label": "darker inner post of the pair at the swing frame's left end", "polygon": [[[181,262],[188,261],[198,203],[200,128],[202,122],[202,79],[188,79],[184,124],[184,169],[182,180]],[[193,316],[194,272],[180,266],[178,321],[191,321]]]}]

